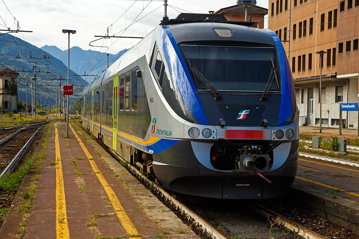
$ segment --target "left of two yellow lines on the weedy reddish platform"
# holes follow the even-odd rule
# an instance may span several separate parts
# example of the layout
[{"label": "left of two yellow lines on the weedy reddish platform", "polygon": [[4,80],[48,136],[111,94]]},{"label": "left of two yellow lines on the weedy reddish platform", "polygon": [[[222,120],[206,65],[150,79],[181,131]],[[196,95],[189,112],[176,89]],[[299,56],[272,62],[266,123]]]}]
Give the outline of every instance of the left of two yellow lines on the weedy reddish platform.
[{"label": "left of two yellow lines on the weedy reddish platform", "polygon": [[69,226],[67,225],[64,178],[62,176],[62,164],[59,145],[57,123],[55,124],[55,148],[56,148],[56,238],[70,239]]}]

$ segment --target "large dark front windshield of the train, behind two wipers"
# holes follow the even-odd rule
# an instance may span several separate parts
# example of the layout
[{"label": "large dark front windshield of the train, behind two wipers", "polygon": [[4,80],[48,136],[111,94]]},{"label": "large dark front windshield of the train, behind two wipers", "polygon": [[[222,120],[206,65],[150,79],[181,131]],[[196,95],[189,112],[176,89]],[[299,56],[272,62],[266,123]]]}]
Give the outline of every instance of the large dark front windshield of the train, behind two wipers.
[{"label": "large dark front windshield of the train, behind two wipers", "polygon": [[[274,67],[278,67],[277,81],[271,92],[279,92],[280,68],[274,47],[180,45],[191,66],[218,91],[263,92]],[[271,60],[272,59],[272,60]],[[199,90],[208,90],[200,79],[195,79]]]}]

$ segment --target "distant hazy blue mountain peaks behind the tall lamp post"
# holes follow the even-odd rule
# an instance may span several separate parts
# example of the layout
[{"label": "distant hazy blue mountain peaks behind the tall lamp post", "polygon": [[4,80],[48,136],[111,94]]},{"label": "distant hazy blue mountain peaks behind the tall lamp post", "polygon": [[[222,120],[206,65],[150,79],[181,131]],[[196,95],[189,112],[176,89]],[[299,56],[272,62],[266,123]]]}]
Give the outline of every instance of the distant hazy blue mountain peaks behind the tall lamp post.
[{"label": "distant hazy blue mountain peaks behind the tall lamp post", "polygon": [[[67,50],[62,51],[56,46],[45,45],[41,47],[42,50],[60,59],[67,66]],[[127,50],[124,49],[117,54],[108,54],[108,65],[114,63],[120,56],[122,56]],[[99,75],[107,68],[107,53],[82,50],[78,46],[70,48],[70,69],[82,75],[86,72],[89,75]],[[92,77],[90,77],[92,79]],[[88,80],[88,79],[86,79]]]}]

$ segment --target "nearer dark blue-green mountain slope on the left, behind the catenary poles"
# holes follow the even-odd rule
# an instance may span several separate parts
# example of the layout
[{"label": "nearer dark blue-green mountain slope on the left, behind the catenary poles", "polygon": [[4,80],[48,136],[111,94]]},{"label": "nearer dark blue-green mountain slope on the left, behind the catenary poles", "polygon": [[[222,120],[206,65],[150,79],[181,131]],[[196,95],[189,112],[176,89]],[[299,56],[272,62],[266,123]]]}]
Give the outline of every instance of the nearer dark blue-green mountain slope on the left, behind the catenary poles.
[{"label": "nearer dark blue-green mountain slope on the left, behind the catenary poles", "polygon": [[[61,85],[67,83],[67,66],[61,60],[55,58],[49,53],[46,54],[46,57],[49,58],[40,59],[44,56],[43,50],[10,34],[0,36],[0,42],[0,57],[6,57],[0,58],[0,68],[4,69],[5,67],[8,67],[9,69],[20,73],[18,76],[18,100],[26,102],[25,83],[27,81],[26,74],[28,74],[29,103],[31,103],[31,78],[34,75],[32,68],[36,61],[36,100],[39,104],[41,103],[42,88],[43,106],[45,104],[47,105],[50,99],[52,99],[51,104],[54,104],[56,97],[56,84],[60,83],[60,75],[62,76],[62,79],[66,79],[66,81],[61,81]],[[52,47],[53,52],[56,52],[56,48]],[[20,58],[17,58],[17,56]],[[70,70],[70,84],[74,85],[74,96],[70,97],[71,101],[76,101],[80,98],[84,86],[88,84],[83,80],[83,78],[76,78],[74,75],[77,74],[73,70]]]}]

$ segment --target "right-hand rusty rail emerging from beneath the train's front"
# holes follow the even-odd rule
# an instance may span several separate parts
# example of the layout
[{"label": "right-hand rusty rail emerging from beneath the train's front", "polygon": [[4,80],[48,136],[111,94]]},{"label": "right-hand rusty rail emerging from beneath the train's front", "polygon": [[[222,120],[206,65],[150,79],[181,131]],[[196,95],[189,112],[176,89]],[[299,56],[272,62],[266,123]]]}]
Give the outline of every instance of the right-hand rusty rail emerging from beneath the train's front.
[{"label": "right-hand rusty rail emerging from beneath the train's front", "polygon": [[325,236],[322,236],[315,231],[312,231],[302,225],[299,225],[297,222],[289,220],[276,212],[273,212],[261,205],[258,205],[257,203],[251,202],[250,207],[258,213],[263,213],[267,217],[272,217],[272,219],[277,224],[285,226],[286,228],[298,233],[306,239],[327,239]]}]

